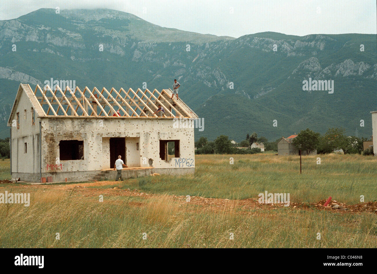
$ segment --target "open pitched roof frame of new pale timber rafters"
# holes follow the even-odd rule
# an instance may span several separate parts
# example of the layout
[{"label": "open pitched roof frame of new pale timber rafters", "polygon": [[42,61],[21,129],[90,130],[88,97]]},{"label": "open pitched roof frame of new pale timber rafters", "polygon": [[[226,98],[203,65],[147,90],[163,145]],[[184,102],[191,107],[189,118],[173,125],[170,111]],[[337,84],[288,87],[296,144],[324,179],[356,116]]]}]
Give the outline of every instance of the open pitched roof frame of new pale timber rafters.
[{"label": "open pitched roof frame of new pale timber rafters", "polygon": [[[69,86],[66,86],[63,91],[58,85],[55,90],[52,90],[49,85],[46,85],[43,90],[36,85],[33,91],[29,85],[20,84],[18,93],[22,90],[26,92],[31,104],[37,110],[38,117],[157,118],[160,116],[154,114],[154,111],[158,109],[158,104],[164,107],[166,113],[162,117],[165,118],[193,118],[196,116],[181,99],[178,102],[178,100],[170,98],[172,95],[170,89],[162,90],[160,93],[156,89],[151,92],[148,89],[143,91],[140,88],[136,91],[132,88],[127,91],[124,88],[120,88],[118,91],[115,88],[111,88],[110,91],[102,88],[100,91],[94,87],[91,91],[85,87],[81,91],[79,87],[76,87],[72,91]],[[121,113],[119,115],[115,107],[124,116],[121,116]],[[173,110],[175,114],[172,112]]]}]

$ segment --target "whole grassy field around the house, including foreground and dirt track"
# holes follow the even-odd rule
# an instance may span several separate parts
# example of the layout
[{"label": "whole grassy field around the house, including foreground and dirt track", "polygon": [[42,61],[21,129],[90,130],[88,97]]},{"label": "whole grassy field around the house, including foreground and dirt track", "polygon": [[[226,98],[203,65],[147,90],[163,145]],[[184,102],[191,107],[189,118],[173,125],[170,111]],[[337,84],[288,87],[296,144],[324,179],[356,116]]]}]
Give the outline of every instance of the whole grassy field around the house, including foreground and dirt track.
[{"label": "whole grassy field around the house, including foreground and dirt track", "polygon": [[[374,212],[254,201],[265,190],[290,193],[291,202],[315,203],[332,196],[359,204],[360,195],[365,202],[375,201],[376,158],[306,156],[300,175],[299,158],[293,156],[196,155],[195,175],[118,183],[0,184],[0,193],[31,194],[29,207],[0,204],[0,247],[376,247]],[[9,175],[5,165],[6,160],[0,161],[2,179],[6,170]],[[193,196],[190,202],[186,195]]]}]

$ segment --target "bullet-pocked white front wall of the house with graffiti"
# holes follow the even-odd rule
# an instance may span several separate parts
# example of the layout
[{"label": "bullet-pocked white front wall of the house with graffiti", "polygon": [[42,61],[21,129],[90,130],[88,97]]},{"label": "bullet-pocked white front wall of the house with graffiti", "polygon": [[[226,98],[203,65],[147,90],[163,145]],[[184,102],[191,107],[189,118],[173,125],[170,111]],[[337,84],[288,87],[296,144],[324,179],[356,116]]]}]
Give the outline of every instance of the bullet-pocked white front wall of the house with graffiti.
[{"label": "bullet-pocked white front wall of the house with graffiti", "polygon": [[[109,168],[110,137],[126,137],[128,166],[155,168],[195,167],[194,129],[173,128],[164,118],[42,118],[42,172],[89,171]],[[60,140],[83,140],[84,160],[60,161]],[[166,162],[159,157],[159,140],[180,140],[180,159]],[[139,151],[135,152],[136,142]],[[135,157],[138,155],[138,157]],[[60,166],[61,164],[61,166]]]}]

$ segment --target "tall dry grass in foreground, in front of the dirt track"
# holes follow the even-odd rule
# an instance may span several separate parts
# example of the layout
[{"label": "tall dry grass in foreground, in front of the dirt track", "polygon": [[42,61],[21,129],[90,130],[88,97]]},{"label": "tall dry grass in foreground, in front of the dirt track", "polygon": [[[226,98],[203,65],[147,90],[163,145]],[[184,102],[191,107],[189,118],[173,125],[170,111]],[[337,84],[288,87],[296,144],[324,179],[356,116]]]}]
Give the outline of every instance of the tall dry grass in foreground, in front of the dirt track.
[{"label": "tall dry grass in foreground, in front of the dirt track", "polygon": [[361,248],[376,247],[377,239],[376,218],[368,213],[286,208],[241,212],[230,203],[204,210],[170,196],[141,202],[105,196],[99,202],[97,197],[46,190],[35,192],[29,207],[14,205],[8,217],[4,213],[1,208],[2,248]]}]

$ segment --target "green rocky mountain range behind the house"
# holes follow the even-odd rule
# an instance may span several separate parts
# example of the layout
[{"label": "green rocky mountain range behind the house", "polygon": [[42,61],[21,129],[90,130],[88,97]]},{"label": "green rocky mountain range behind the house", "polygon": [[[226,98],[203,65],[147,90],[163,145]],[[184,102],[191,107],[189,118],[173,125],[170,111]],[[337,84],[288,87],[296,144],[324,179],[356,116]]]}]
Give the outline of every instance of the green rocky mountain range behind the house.
[{"label": "green rocky mountain range behind the house", "polygon": [[[9,137],[20,82],[33,87],[51,78],[134,90],[172,88],[178,79],[179,96],[204,118],[196,140],[225,134],[241,141],[252,132],[275,140],[330,127],[369,137],[369,112],[377,110],[376,45],[376,34],[218,37],[109,9],[38,9],[0,21],[0,138]],[[333,81],[333,93],[303,90],[310,79]]]}]

